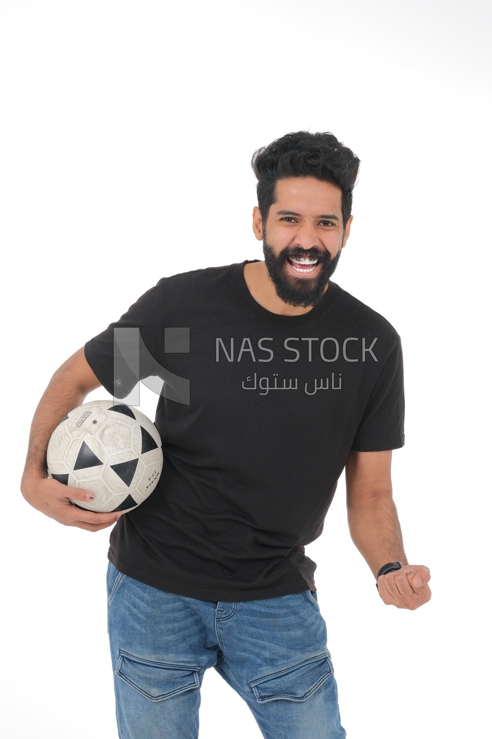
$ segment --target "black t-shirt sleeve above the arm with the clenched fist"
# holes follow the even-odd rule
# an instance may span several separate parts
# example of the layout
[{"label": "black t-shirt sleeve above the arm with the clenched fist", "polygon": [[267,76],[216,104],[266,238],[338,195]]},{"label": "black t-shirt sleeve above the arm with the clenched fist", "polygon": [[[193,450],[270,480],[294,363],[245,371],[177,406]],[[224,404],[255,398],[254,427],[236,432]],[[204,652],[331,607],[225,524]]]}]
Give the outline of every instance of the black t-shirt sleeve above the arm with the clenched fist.
[{"label": "black t-shirt sleeve above the arm with the clenched fist", "polygon": [[400,449],[405,443],[404,418],[403,354],[401,338],[397,335],[375,381],[351,448],[356,452]]}]

